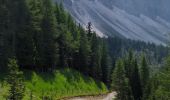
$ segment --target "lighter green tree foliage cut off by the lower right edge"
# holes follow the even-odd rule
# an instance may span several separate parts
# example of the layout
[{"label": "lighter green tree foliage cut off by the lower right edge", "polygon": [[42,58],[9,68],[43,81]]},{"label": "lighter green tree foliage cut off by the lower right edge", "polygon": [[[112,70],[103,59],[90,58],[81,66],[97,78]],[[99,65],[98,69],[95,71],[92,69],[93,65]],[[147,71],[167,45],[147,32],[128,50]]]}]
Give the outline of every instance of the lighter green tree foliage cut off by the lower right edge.
[{"label": "lighter green tree foliage cut off by the lower right edge", "polygon": [[153,76],[151,81],[151,93],[148,100],[169,100],[170,99],[170,57],[162,70]]}]

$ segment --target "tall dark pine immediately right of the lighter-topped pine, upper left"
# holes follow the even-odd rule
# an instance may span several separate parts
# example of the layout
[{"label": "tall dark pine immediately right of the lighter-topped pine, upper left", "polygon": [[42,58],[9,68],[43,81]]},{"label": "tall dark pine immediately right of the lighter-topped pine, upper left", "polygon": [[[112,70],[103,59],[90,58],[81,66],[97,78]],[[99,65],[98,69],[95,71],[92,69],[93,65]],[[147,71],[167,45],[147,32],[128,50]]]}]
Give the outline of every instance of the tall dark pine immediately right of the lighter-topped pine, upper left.
[{"label": "tall dark pine immediately right of the lighter-topped pine, upper left", "polygon": [[[42,56],[45,69],[54,68],[57,61],[57,43],[58,37],[56,30],[56,17],[51,0],[43,0],[43,17],[42,17]],[[48,66],[48,67],[47,67]]]}]

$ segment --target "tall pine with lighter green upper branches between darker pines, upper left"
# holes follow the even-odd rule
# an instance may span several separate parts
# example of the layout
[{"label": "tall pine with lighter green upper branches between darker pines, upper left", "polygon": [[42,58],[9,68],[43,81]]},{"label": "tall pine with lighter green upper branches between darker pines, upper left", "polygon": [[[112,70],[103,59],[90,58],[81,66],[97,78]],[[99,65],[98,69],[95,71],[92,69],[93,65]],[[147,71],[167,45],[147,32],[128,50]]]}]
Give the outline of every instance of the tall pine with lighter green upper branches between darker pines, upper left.
[{"label": "tall pine with lighter green upper branches between darker pines, upper left", "polygon": [[29,0],[28,1],[29,13],[30,13],[30,32],[33,35],[33,66],[43,68],[43,35],[41,22],[43,18],[42,1],[41,0]]}]

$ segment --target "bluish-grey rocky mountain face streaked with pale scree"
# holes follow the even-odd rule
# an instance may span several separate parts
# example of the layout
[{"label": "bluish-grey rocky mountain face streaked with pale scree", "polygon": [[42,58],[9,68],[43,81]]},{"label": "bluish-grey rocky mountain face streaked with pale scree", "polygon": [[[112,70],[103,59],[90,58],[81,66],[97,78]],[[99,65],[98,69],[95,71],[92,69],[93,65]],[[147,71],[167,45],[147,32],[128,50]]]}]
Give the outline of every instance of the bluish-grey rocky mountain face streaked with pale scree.
[{"label": "bluish-grey rocky mountain face streaked with pale scree", "polygon": [[[59,1],[59,0],[56,0]],[[170,42],[170,0],[63,0],[84,27],[99,36],[119,36],[166,45]]]}]

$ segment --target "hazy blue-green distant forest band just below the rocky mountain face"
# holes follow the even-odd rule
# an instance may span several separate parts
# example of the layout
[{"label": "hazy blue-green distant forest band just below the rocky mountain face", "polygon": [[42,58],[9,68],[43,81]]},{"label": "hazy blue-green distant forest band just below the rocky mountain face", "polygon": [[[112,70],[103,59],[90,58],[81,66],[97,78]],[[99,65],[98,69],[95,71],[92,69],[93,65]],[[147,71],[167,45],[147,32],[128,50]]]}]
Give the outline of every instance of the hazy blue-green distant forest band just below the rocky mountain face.
[{"label": "hazy blue-green distant forest band just below the rocky mountain face", "polygon": [[108,37],[105,40],[113,62],[115,62],[119,57],[124,57],[128,53],[129,49],[131,49],[137,54],[137,56],[145,53],[147,60],[154,64],[153,66],[157,66],[162,63],[164,57],[166,57],[169,53],[169,47],[155,45],[153,43],[146,43],[125,38],[122,39],[119,37]]}]

